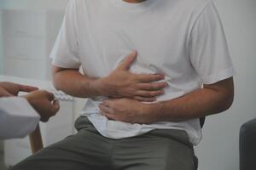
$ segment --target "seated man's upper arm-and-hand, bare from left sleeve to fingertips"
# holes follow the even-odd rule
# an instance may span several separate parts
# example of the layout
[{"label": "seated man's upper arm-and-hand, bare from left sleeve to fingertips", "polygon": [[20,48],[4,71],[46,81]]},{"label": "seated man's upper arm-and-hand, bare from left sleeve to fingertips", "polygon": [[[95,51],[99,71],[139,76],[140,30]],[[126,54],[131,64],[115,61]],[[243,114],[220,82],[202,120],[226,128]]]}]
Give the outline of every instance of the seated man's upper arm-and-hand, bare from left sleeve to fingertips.
[{"label": "seated man's upper arm-and-hand, bare from left sleeve to fingertips", "polygon": [[164,94],[166,82],[157,82],[165,77],[160,74],[132,74],[129,69],[137,53],[130,54],[108,77],[88,77],[79,70],[54,66],[54,85],[58,90],[80,98],[106,96],[112,98],[132,98],[140,101],[154,101]]}]

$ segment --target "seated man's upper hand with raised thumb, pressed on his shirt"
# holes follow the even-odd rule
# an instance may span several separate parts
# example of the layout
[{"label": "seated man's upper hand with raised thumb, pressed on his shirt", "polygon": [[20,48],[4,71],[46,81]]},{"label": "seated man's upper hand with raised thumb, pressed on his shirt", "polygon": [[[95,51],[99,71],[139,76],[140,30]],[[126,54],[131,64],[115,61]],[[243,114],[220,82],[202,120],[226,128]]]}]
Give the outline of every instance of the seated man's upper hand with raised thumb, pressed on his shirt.
[{"label": "seated man's upper hand with raised thumb, pressed on his shirt", "polygon": [[102,84],[102,94],[111,98],[131,98],[139,101],[154,101],[157,96],[164,94],[166,82],[157,82],[165,79],[160,74],[133,74],[130,67],[137,58],[133,52],[108,77],[99,79]]}]

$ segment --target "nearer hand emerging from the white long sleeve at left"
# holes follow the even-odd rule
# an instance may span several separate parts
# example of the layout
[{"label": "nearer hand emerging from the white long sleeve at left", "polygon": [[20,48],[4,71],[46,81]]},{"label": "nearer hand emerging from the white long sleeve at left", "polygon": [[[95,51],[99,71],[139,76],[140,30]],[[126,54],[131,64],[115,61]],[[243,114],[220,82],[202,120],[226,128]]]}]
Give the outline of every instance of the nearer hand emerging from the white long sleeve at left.
[{"label": "nearer hand emerging from the white long sleeve at left", "polygon": [[23,97],[38,111],[42,122],[47,122],[49,117],[55,116],[57,111],[60,110],[59,102],[55,100],[54,94],[47,91],[38,90]]}]

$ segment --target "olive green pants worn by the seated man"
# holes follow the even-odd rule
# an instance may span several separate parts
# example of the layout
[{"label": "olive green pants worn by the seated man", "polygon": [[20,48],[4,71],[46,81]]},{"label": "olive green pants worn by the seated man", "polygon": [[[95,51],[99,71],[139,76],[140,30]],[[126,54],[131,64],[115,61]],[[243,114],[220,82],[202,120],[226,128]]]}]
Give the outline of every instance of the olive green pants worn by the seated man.
[{"label": "olive green pants worn by the seated man", "polygon": [[11,170],[195,170],[193,146],[182,130],[108,139],[86,117],[79,117],[75,127],[77,134],[40,150]]}]

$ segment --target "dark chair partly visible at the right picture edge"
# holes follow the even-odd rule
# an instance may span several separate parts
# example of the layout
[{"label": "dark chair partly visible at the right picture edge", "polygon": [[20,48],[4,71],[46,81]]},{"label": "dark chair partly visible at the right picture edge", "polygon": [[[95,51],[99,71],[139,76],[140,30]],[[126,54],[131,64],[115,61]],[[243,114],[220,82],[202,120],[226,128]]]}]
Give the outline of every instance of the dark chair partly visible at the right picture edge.
[{"label": "dark chair partly visible at the right picture edge", "polygon": [[256,169],[256,118],[241,126],[240,138],[240,170]]}]

